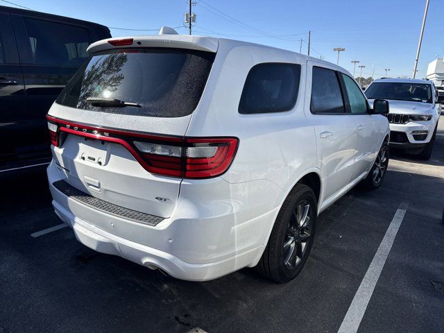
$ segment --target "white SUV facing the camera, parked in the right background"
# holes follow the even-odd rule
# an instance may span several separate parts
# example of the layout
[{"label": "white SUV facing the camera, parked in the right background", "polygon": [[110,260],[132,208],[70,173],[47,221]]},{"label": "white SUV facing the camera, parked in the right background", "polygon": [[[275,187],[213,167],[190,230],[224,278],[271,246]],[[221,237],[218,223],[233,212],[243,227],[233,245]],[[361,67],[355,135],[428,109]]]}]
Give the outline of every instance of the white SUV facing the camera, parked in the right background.
[{"label": "white SUV facing the camera, parked in the right background", "polygon": [[386,99],[390,123],[390,145],[428,160],[438,128],[441,105],[429,80],[385,78],[375,80],[366,89],[367,98]]}]

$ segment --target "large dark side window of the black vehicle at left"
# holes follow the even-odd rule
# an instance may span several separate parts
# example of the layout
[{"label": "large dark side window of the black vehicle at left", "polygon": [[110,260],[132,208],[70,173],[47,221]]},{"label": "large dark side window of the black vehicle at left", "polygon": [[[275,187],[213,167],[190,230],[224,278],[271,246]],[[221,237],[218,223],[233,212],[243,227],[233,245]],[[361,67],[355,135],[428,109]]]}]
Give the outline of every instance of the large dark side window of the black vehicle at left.
[{"label": "large dark side window of the black vehicle at left", "polygon": [[26,17],[24,23],[33,64],[78,67],[88,58],[87,28]]}]

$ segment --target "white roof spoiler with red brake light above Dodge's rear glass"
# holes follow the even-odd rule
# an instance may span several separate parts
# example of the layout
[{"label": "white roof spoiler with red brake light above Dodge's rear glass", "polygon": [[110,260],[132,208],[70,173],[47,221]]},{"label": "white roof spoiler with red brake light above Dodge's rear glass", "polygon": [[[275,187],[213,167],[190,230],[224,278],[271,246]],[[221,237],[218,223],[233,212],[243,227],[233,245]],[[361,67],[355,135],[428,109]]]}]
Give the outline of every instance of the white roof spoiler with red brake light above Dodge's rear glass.
[{"label": "white roof spoiler with red brake light above Dodge's rear glass", "polygon": [[[130,43],[119,44],[120,40],[132,40]],[[112,45],[112,44],[114,45]],[[109,49],[128,49],[128,47],[154,47],[154,48],[174,48],[189,49],[197,51],[207,51],[215,53],[219,46],[219,40],[214,37],[190,36],[190,35],[151,35],[119,37],[99,40],[99,42],[89,45],[87,52],[89,54]]]}]

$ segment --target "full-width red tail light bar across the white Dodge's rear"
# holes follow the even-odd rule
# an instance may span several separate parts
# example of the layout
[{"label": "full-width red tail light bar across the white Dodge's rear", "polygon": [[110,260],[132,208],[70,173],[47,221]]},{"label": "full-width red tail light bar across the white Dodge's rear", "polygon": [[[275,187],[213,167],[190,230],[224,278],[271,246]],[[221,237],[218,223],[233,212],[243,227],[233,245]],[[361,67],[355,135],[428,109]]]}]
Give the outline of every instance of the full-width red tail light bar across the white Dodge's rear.
[{"label": "full-width red tail light bar across the white Dodge's rear", "polygon": [[220,176],[230,167],[239,144],[237,137],[169,137],[47,119],[54,146],[59,146],[60,132],[121,144],[146,171],[178,178]]}]

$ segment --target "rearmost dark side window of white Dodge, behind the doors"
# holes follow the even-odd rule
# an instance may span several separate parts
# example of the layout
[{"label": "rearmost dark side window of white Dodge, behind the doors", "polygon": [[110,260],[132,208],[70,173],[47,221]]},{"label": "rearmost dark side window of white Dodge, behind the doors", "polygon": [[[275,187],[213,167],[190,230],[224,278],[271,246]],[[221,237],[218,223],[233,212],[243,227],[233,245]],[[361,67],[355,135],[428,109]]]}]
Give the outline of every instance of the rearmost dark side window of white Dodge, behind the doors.
[{"label": "rearmost dark side window of white Dodge, behind the doors", "polygon": [[255,65],[245,81],[239,113],[270,113],[291,110],[298,99],[300,65]]}]

